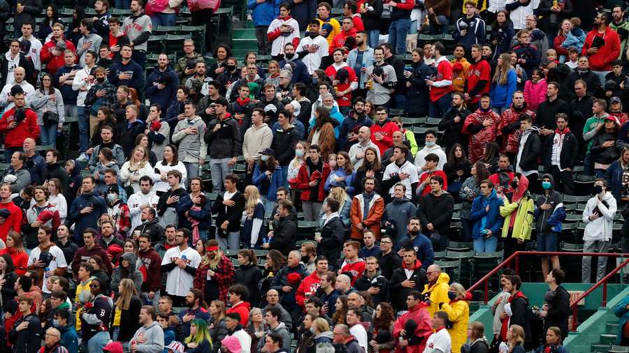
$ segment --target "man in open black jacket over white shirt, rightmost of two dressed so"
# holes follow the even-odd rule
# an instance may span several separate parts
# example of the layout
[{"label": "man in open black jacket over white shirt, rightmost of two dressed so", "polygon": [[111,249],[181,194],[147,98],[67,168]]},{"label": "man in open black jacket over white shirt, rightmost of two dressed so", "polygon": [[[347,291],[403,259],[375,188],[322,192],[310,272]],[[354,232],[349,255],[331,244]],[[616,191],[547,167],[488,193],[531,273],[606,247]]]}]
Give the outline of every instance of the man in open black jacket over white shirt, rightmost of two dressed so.
[{"label": "man in open black jacket over white shirt, rightmost of two dressed so", "polygon": [[579,140],[568,128],[567,114],[557,114],[555,121],[557,128],[542,145],[542,163],[555,180],[555,190],[572,195],[572,168],[579,158]]}]

